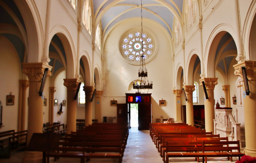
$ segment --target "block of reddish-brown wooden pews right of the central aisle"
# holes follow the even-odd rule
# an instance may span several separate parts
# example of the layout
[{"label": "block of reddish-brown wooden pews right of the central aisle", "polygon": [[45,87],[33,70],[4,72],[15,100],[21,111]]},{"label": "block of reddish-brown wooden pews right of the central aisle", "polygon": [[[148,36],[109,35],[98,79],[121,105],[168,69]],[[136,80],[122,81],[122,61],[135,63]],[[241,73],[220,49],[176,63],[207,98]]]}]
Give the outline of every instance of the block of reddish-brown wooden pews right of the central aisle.
[{"label": "block of reddish-brown wooden pews right of the central aisle", "polygon": [[228,137],[213,135],[200,128],[184,123],[151,123],[150,136],[163,157],[168,163],[174,157],[199,157],[207,163],[207,157],[242,157],[239,141],[228,141]]}]

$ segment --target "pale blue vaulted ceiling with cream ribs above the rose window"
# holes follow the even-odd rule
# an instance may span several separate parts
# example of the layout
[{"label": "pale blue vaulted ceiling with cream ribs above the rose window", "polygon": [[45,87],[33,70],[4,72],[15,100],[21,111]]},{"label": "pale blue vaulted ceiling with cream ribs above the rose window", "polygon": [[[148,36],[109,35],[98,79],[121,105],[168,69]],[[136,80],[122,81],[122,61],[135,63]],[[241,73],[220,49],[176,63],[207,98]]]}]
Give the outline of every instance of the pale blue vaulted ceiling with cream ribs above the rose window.
[{"label": "pale blue vaulted ceiling with cream ribs above the rose window", "polygon": [[[140,17],[140,0],[92,0],[94,28],[101,21],[103,37],[121,20]],[[158,22],[172,38],[174,18],[182,25],[183,0],[142,0],[142,16]]]}]

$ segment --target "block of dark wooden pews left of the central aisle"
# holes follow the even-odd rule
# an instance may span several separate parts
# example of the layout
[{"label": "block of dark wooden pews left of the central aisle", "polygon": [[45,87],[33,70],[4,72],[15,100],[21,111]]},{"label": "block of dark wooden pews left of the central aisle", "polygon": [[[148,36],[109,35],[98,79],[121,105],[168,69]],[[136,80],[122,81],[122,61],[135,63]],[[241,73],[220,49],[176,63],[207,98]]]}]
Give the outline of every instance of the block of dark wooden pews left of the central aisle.
[{"label": "block of dark wooden pews left of the central aisle", "polygon": [[118,158],[122,162],[123,152],[129,135],[128,124],[94,123],[82,130],[66,134],[59,142],[56,152],[46,154],[61,157],[80,158],[81,163],[90,158]]}]

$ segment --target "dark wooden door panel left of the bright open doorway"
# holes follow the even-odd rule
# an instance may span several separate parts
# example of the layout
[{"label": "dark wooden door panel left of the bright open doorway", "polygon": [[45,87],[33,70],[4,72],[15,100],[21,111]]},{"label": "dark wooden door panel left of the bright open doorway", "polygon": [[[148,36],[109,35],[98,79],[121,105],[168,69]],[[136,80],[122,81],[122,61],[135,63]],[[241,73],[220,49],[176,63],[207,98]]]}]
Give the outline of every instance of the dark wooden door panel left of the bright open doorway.
[{"label": "dark wooden door panel left of the bright open doorway", "polygon": [[128,123],[128,104],[117,104],[117,123]]}]

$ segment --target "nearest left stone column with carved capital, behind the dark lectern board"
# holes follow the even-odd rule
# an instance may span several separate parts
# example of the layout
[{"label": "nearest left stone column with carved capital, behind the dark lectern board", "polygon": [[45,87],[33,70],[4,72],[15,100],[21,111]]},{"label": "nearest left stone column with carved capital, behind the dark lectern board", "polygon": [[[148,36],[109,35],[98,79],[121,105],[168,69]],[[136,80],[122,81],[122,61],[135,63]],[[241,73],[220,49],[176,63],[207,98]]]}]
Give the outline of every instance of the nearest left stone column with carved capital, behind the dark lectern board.
[{"label": "nearest left stone column with carved capital, behind the dark lectern board", "polygon": [[[39,96],[41,80],[45,68],[49,68],[47,76],[52,75],[52,69],[46,63],[22,63],[22,72],[29,79],[29,101],[28,101],[28,134],[27,144],[29,143],[33,133],[42,133],[43,128],[43,98]],[[46,79],[45,79],[46,80]],[[42,161],[42,152],[25,151],[22,163],[38,163]]]}]

